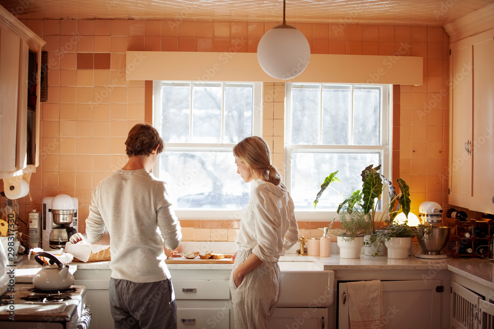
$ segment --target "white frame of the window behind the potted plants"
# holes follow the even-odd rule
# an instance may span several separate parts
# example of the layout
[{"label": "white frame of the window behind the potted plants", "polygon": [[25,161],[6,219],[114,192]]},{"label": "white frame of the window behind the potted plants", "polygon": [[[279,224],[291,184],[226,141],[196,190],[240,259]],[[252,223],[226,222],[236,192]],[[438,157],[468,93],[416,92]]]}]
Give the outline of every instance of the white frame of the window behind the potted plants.
[{"label": "white frame of the window behind the potted plants", "polygon": [[[300,144],[289,144],[291,142],[291,85],[292,84],[301,84],[300,82],[287,82],[285,84],[285,102],[286,102],[286,114],[285,114],[285,183],[288,187],[288,190],[291,190],[291,153],[292,151],[321,151],[321,152],[326,152],[329,150],[340,150],[340,151],[351,151],[351,152],[365,152],[368,150],[378,150],[382,154],[382,174],[389,179],[390,181],[392,180],[392,147],[391,147],[391,141],[392,139],[392,115],[391,115],[391,110],[392,110],[392,85],[389,84],[382,84],[382,95],[381,95],[381,104],[382,104],[382,122],[381,122],[381,145],[377,146],[367,146],[367,145],[324,145],[324,144],[319,144],[319,145],[300,145]],[[353,95],[353,86],[365,86],[366,84],[364,83],[302,83],[302,84],[311,84],[311,85],[319,85],[320,86],[320,97],[322,97],[322,87],[323,85],[328,86],[328,85],[333,85],[333,86],[351,86],[352,89],[352,95]],[[368,85],[368,84],[367,84]],[[386,98],[387,97],[387,98]],[[351,98],[353,101],[353,97]],[[322,130],[322,120],[321,120],[321,113],[322,113],[322,102],[320,102],[320,109],[319,109],[319,132]],[[353,106],[352,106],[353,110]],[[352,127],[353,129],[353,123]],[[322,134],[319,134],[319,142],[321,142],[321,136]],[[352,136],[352,135],[350,135]],[[338,170],[338,168],[334,168],[335,170]],[[364,169],[364,168],[362,168]],[[330,173],[328,173],[329,175]],[[328,176],[327,175],[327,176]],[[317,186],[320,186],[321,182],[314,182]],[[337,188],[337,186],[335,187]],[[314,199],[316,198],[316,195],[314,195]],[[383,201],[384,203],[386,202],[386,199],[388,198],[387,193],[383,193]],[[336,216],[335,211],[325,211],[325,210],[318,210],[317,207],[316,209],[313,209],[311,211],[295,211],[295,216],[297,220],[327,220],[331,221]]]}]

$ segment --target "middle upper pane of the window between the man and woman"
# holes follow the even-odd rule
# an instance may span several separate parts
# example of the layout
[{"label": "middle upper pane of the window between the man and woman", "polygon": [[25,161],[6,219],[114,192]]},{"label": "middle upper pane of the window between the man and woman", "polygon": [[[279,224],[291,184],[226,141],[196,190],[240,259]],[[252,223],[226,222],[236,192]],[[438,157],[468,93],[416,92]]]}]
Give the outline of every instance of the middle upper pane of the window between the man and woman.
[{"label": "middle upper pane of the window between the man and woman", "polygon": [[218,143],[221,138],[221,83],[194,83],[192,142]]}]

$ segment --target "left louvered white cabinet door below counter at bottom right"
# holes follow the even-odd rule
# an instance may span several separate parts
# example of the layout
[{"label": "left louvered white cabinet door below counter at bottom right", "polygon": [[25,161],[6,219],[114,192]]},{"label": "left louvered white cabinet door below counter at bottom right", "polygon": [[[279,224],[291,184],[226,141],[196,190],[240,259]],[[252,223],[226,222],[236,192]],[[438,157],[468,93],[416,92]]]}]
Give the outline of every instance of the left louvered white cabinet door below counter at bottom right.
[{"label": "left louvered white cabinet door below counter at bottom right", "polygon": [[456,282],[451,282],[450,327],[452,329],[477,329],[477,312],[480,296]]}]

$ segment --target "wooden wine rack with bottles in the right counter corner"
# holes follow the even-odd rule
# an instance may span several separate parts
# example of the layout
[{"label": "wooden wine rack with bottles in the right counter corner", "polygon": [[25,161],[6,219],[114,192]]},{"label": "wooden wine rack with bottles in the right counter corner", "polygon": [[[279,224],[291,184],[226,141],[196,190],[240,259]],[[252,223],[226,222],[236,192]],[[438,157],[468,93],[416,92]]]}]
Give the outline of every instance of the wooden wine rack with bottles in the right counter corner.
[{"label": "wooden wine rack with bottles in the right counter corner", "polygon": [[445,222],[451,227],[450,238],[445,252],[455,258],[488,257],[492,252],[493,220],[468,219],[461,221],[447,217]]}]

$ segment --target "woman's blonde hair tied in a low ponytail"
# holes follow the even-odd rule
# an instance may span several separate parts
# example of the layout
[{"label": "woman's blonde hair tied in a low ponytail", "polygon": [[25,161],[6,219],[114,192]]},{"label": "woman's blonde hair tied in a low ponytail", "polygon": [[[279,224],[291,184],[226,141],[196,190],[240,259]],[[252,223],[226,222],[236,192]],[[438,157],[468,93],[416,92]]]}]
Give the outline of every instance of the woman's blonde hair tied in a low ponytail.
[{"label": "woman's blonde hair tied in a low ponytail", "polygon": [[243,139],[233,147],[233,155],[246,163],[251,173],[253,170],[259,171],[263,181],[280,185],[285,189],[278,169],[271,164],[269,146],[262,138],[251,136]]}]

